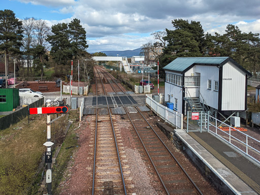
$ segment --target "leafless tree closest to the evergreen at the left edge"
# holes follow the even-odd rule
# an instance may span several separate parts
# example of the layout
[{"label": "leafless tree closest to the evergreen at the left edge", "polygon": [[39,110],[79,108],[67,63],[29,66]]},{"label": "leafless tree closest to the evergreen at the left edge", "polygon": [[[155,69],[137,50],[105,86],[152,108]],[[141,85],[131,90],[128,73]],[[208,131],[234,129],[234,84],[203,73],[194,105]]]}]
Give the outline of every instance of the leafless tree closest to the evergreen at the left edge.
[{"label": "leafless tree closest to the evergreen at the left edge", "polygon": [[[31,48],[34,44],[35,18],[24,18],[22,20],[23,28],[23,50],[27,60],[27,76],[29,77],[29,68],[31,65]],[[30,69],[32,74],[32,70]]]}]

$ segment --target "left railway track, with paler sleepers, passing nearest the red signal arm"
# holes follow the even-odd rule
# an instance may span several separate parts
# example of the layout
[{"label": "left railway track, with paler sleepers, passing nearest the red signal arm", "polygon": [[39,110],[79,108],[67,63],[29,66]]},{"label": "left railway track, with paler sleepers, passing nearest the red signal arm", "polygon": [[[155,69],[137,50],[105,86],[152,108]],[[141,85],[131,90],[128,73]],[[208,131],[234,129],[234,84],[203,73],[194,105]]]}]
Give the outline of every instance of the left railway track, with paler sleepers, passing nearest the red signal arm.
[{"label": "left railway track, with paler sleepers, passing nearest the red signal arm", "polygon": [[[121,166],[124,151],[120,147],[122,145],[120,134],[118,134],[116,125],[113,124],[114,118],[109,110],[104,84],[97,71],[95,71],[95,81],[96,115],[92,194],[126,194]],[[98,109],[98,95],[103,94],[106,96],[109,115],[103,115],[102,109],[104,108]],[[127,168],[127,165],[124,167]]]}]

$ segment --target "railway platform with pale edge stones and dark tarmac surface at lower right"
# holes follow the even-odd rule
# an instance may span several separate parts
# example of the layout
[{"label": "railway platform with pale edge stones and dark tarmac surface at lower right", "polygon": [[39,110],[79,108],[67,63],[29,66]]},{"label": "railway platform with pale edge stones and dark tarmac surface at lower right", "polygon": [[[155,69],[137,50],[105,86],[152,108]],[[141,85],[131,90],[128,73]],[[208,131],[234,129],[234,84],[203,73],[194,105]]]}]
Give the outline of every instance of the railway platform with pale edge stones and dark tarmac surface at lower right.
[{"label": "railway platform with pale edge stones and dark tarmac surface at lower right", "polygon": [[223,194],[260,194],[260,169],[210,133],[174,129],[178,142]]}]

